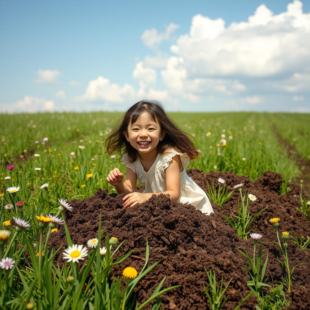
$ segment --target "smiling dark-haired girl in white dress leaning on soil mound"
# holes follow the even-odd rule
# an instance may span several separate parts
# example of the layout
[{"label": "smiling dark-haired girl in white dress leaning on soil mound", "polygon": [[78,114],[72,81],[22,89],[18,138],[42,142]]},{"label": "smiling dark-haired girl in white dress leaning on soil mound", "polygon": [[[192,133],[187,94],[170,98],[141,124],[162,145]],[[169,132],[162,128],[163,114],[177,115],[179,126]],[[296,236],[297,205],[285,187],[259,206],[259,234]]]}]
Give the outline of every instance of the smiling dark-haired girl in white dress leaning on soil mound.
[{"label": "smiling dark-haired girl in white dress leaning on soil mound", "polygon": [[[129,108],[105,145],[109,155],[118,151],[126,166],[124,182],[118,168],[107,176],[117,193],[131,192],[123,198],[124,207],[163,193],[169,194],[171,200],[190,203],[203,213],[213,212],[206,193],[185,171],[198,152],[158,101],[139,101]],[[137,179],[145,186],[143,193],[135,192]]]}]

